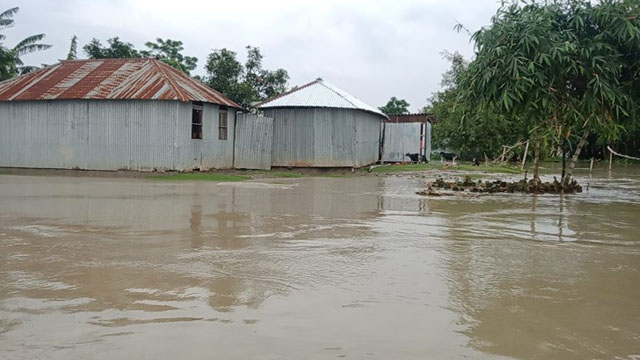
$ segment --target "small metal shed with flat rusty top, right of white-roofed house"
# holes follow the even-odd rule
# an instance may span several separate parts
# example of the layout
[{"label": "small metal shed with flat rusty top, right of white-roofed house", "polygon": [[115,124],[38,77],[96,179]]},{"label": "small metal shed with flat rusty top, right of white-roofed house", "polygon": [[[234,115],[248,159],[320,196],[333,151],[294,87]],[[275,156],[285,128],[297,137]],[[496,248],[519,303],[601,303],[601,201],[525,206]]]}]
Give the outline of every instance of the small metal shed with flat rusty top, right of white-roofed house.
[{"label": "small metal shed with flat rusty top, right of white-roofed house", "polygon": [[411,161],[406,154],[420,154],[431,161],[431,114],[389,115],[384,122],[383,162]]}]

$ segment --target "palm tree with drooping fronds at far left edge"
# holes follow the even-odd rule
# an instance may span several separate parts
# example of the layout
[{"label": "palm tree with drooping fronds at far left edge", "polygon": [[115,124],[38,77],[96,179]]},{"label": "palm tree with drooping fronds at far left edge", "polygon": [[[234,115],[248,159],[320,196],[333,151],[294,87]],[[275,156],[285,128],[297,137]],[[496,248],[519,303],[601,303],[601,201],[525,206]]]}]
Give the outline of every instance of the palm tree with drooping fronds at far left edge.
[{"label": "palm tree with drooping fronds at far left edge", "polygon": [[[0,30],[13,27],[13,16],[18,12],[19,8],[14,7],[0,14]],[[19,74],[26,74],[36,69],[35,66],[24,65],[21,56],[30,54],[35,51],[46,50],[51,45],[39,43],[44,39],[45,34],[36,34],[20,41],[13,48],[4,45],[6,36],[0,34],[0,81],[9,79]]]}]

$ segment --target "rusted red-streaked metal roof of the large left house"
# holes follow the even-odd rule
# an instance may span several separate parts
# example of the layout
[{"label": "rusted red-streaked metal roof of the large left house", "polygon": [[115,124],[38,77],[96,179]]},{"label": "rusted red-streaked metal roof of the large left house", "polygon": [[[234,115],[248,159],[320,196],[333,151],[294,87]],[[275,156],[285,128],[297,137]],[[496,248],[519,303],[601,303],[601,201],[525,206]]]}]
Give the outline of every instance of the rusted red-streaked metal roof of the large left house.
[{"label": "rusted red-streaked metal roof of the large left house", "polygon": [[0,101],[70,99],[202,101],[242,108],[156,59],[65,60],[0,82]]}]

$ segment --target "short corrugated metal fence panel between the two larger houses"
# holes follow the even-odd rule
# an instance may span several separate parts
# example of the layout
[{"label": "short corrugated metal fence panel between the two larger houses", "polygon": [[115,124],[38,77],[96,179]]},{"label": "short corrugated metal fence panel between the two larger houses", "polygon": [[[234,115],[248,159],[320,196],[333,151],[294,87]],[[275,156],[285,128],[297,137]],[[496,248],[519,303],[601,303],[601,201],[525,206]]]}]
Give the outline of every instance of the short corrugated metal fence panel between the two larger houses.
[{"label": "short corrugated metal fence panel between the two larger houses", "polygon": [[238,114],[233,155],[236,169],[271,169],[273,119],[254,114]]}]

